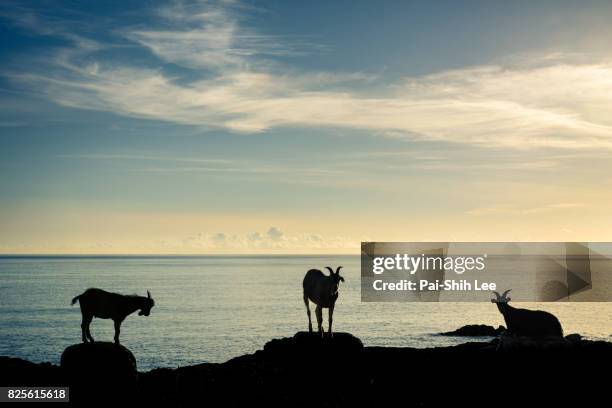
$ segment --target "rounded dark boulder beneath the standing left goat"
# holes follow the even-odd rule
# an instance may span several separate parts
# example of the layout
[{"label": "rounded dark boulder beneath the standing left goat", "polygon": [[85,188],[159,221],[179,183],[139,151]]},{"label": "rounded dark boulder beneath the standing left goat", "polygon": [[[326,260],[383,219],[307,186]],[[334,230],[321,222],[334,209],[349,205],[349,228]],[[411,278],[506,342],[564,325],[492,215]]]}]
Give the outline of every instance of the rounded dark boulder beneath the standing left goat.
[{"label": "rounded dark boulder beneath the standing left goat", "polygon": [[62,353],[61,368],[70,385],[71,401],[126,401],[136,395],[136,359],[121,345],[95,342],[69,346]]}]

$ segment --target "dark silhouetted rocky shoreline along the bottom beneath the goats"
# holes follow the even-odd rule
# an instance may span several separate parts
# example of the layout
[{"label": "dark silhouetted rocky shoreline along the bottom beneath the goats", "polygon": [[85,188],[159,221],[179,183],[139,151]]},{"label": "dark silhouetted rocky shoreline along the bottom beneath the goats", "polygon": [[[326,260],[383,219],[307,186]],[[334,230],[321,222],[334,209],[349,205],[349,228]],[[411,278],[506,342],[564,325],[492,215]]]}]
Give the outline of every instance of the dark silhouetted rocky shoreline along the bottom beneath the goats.
[{"label": "dark silhouetted rocky shoreline along the bottom beneath the goats", "polygon": [[[67,378],[71,395],[80,396],[73,405],[83,406],[100,402],[101,392],[115,402],[137,398],[139,406],[169,407],[589,406],[607,400],[608,377],[597,367],[612,364],[612,343],[571,335],[563,347],[532,347],[538,340],[502,337],[514,347],[498,350],[499,339],[427,349],[363,347],[347,333],[333,339],[297,333],[222,364],[155,369],[137,381],[126,349],[79,345],[66,350],[62,368],[2,358],[0,373],[41,384],[45,377]],[[100,378],[103,372],[112,378]],[[98,376],[93,385],[92,376]]]}]

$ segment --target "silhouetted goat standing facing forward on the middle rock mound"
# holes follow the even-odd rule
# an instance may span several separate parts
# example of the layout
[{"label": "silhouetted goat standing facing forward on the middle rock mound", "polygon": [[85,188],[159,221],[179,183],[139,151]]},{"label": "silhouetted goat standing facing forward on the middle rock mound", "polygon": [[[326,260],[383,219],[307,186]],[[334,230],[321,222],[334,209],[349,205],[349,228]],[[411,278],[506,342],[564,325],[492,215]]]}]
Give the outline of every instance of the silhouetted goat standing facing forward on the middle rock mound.
[{"label": "silhouetted goat standing facing forward on the middle rock mound", "polygon": [[340,276],[339,266],[336,272],[326,266],[329,270],[329,276],[326,276],[318,269],[311,269],[306,272],[302,287],[304,288],[304,304],[306,305],[306,313],[308,314],[308,331],[312,333],[312,320],[310,318],[310,304],[308,300],[313,302],[317,307],[315,308],[315,315],[317,317],[317,325],[319,334],[323,337],[323,308],[329,309],[329,337],[332,337],[332,321],[334,315],[334,307],[336,300],[338,299],[338,286],[340,281],[344,282],[344,278]]}]

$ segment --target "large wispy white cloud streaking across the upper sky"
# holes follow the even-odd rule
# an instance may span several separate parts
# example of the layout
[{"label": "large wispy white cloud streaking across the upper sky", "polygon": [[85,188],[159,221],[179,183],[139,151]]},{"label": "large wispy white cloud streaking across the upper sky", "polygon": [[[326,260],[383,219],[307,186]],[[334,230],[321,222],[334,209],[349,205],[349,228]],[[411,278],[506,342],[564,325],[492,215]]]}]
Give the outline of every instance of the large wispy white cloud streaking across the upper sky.
[{"label": "large wispy white cloud streaking across the upper sky", "polygon": [[50,62],[53,70],[6,75],[62,105],[234,132],[338,127],[517,149],[612,149],[610,61],[543,54],[537,63],[377,81],[379,89],[365,92],[354,81],[361,73],[298,72],[274,62],[294,47],[247,30],[241,12],[235,3],[178,3],[158,11],[158,25],[119,30],[160,62],[190,69],[189,79],[66,53]]}]

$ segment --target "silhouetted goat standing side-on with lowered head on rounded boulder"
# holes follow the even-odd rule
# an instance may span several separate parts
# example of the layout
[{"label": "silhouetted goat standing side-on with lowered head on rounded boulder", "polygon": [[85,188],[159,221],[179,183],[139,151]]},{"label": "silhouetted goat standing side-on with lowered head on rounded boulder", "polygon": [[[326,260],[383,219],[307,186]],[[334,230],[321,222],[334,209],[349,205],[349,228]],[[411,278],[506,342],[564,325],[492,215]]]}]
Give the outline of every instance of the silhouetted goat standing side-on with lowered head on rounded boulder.
[{"label": "silhouetted goat standing side-on with lowered head on rounded boulder", "polygon": [[155,305],[148,290],[147,297],[144,297],[120,295],[92,288],[73,298],[71,304],[74,305],[77,301],[83,317],[81,322],[83,343],[87,343],[88,340],[94,342],[89,330],[89,325],[94,317],[113,320],[115,323],[115,344],[119,344],[119,333],[123,320],[136,310],[140,310],[138,312],[139,316],[148,316],[151,313],[151,308]]}]

